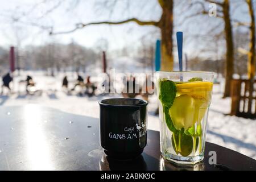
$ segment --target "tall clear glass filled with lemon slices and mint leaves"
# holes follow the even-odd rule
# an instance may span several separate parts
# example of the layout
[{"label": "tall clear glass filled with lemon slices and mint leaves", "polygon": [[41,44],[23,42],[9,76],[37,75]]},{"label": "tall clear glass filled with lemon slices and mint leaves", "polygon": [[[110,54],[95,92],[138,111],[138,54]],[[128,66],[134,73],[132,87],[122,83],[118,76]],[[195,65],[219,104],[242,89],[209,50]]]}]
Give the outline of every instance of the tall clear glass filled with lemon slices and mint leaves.
[{"label": "tall clear glass filled with lemon slices and mint leaves", "polygon": [[195,164],[204,158],[213,72],[156,72],[163,158]]}]

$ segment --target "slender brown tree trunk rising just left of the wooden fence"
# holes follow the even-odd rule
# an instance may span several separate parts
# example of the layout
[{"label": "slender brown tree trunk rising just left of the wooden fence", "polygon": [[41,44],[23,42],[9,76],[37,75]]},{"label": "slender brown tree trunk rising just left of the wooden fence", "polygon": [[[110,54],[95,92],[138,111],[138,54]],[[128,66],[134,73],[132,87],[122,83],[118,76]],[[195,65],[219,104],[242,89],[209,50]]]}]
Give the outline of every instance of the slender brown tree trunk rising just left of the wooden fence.
[{"label": "slender brown tree trunk rising just left of the wooden fence", "polygon": [[229,0],[224,0],[223,14],[225,22],[225,36],[226,36],[226,65],[225,65],[225,91],[224,98],[230,97],[231,80],[234,72],[234,45],[233,45],[233,32],[232,24],[229,15]]}]

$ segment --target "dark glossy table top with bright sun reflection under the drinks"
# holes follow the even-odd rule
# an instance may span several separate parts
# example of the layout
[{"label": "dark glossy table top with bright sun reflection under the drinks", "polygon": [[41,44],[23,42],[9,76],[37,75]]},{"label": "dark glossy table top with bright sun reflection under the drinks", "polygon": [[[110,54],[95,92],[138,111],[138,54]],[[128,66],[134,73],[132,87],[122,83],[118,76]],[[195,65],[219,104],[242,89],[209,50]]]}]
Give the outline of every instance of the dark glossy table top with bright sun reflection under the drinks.
[{"label": "dark glossy table top with bright sun reflection under the drinks", "polygon": [[[0,170],[256,170],[256,160],[206,143],[203,162],[177,166],[160,155],[159,132],[148,130],[139,158],[117,162],[100,147],[98,119],[39,105],[0,107]],[[208,163],[217,152],[217,165]]]}]

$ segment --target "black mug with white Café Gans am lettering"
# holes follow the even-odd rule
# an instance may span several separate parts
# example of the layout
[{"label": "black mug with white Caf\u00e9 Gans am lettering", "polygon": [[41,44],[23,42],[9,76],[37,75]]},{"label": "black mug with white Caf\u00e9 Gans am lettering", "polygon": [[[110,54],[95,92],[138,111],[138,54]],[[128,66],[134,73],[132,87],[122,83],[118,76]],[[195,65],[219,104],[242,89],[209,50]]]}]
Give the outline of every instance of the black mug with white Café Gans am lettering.
[{"label": "black mug with white Caf\u00e9 Gans am lettering", "polygon": [[100,104],[100,143],[114,159],[134,159],[147,144],[147,101],[110,98]]}]

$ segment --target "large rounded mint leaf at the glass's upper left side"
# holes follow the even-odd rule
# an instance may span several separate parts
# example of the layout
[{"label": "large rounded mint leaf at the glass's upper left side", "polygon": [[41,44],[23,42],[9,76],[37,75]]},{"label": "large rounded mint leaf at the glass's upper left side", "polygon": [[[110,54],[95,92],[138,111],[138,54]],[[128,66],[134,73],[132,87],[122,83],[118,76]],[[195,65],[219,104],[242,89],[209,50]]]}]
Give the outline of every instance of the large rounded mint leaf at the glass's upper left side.
[{"label": "large rounded mint leaf at the glass's upper left side", "polygon": [[159,81],[159,100],[164,106],[170,107],[174,103],[176,97],[176,86],[171,80],[160,80]]}]

